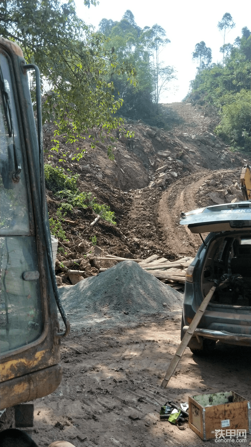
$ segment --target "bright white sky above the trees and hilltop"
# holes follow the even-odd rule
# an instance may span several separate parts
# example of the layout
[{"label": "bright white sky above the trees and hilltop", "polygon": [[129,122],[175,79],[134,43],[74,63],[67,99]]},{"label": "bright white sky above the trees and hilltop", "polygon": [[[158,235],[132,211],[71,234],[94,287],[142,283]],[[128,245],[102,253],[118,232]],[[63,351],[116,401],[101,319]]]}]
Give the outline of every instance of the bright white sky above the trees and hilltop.
[{"label": "bright white sky above the trees and hilltop", "polygon": [[127,9],[132,11],[136,24],[140,28],[154,24],[166,31],[171,41],[160,53],[164,65],[173,66],[177,71],[177,80],[169,84],[169,91],[160,96],[160,102],[179,102],[189,91],[189,82],[196,75],[198,63],[192,60],[192,53],[198,42],[204,41],[212,50],[212,62],[222,60],[219,49],[223,45],[223,36],[218,30],[218,22],[225,13],[230,13],[235,28],[226,34],[225,43],[234,43],[241,30],[247,26],[251,30],[250,0],[99,0],[96,7],[88,9],[83,0],[75,0],[78,16],[87,25],[99,28],[103,19],[120,21]]}]

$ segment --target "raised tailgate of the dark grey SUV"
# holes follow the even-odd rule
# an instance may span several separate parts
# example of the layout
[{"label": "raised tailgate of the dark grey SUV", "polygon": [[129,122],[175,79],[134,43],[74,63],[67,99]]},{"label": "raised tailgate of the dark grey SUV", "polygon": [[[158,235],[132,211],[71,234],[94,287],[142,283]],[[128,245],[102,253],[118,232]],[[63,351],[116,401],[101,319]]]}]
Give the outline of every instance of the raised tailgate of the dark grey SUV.
[{"label": "raised tailgate of the dark grey SUV", "polygon": [[192,233],[251,231],[251,201],[224,203],[181,213],[181,225]]}]

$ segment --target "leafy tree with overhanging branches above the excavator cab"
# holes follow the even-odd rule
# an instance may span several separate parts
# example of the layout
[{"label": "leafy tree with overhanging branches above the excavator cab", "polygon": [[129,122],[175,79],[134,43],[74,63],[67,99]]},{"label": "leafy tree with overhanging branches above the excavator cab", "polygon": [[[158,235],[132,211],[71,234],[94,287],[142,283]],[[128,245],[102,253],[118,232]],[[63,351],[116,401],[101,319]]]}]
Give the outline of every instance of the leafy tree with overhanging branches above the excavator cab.
[{"label": "leafy tree with overhanging branches above the excavator cab", "polygon": [[[109,67],[129,78],[135,72],[129,62],[118,64],[114,52],[104,50],[105,37],[77,17],[73,0],[6,0],[0,33],[21,46],[26,61],[39,66],[44,88],[49,85],[42,114],[44,122],[54,123],[56,149],[57,135],[66,134],[74,143],[90,129],[98,127],[102,137],[123,124],[115,115],[123,101],[115,100],[107,73]],[[95,140],[93,132],[90,138]]]}]

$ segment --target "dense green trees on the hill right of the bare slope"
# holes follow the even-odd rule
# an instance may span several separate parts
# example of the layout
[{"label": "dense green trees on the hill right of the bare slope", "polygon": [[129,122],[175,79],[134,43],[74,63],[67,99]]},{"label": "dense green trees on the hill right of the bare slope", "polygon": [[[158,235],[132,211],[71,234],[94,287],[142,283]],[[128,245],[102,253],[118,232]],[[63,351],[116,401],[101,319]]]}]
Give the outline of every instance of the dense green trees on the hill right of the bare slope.
[{"label": "dense green trees on the hill right of the bare slope", "polygon": [[[190,83],[186,99],[221,120],[215,131],[233,148],[249,151],[251,143],[250,77],[251,33],[245,26],[234,45],[225,44],[226,32],[235,24],[229,13],[218,23],[223,33],[222,63],[201,66]],[[202,42],[201,42],[202,43]]]}]

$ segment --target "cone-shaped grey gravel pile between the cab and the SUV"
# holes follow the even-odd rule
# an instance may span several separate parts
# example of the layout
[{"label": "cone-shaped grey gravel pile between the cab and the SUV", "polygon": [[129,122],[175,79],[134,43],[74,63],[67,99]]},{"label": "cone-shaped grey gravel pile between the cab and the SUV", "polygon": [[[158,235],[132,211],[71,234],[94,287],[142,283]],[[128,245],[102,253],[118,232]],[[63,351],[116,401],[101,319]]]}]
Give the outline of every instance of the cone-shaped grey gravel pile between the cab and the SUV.
[{"label": "cone-shaped grey gravel pile between the cab and the SUV", "polygon": [[72,327],[180,310],[183,298],[131,260],[58,291]]}]

